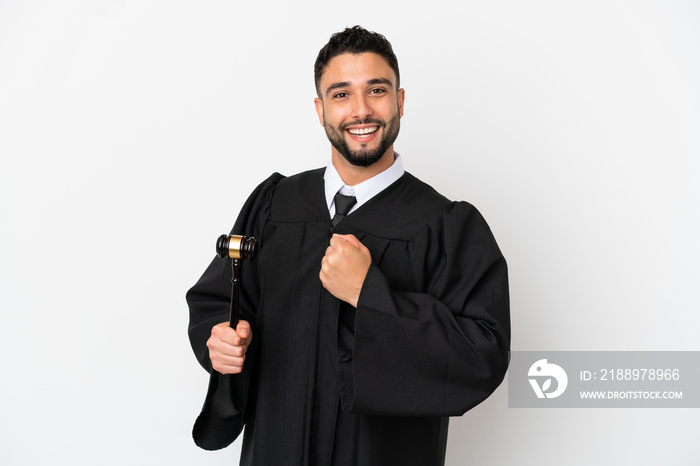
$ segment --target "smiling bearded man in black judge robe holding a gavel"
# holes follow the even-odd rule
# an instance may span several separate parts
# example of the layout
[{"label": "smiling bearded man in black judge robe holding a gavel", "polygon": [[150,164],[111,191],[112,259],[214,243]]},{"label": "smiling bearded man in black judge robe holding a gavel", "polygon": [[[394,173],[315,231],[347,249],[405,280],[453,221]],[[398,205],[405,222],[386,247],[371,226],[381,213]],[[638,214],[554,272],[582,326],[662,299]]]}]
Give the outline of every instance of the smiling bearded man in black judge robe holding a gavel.
[{"label": "smiling bearded man in black judge robe holding a gavel", "polygon": [[404,90],[383,36],[333,35],[315,79],[331,160],[272,175],[244,205],[233,233],[260,252],[237,329],[227,260],[187,294],[211,372],[195,441],[221,448],[245,427],[243,465],[442,465],[448,417],[508,365],[506,263],[474,207],[403,171]]}]

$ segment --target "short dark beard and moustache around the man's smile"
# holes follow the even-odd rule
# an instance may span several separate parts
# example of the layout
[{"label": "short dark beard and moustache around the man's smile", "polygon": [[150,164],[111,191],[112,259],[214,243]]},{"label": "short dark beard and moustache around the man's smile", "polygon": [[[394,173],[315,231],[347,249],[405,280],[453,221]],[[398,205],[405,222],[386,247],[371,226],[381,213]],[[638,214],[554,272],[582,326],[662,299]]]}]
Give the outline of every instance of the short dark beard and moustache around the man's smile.
[{"label": "short dark beard and moustache around the man's smile", "polygon": [[[379,140],[379,145],[376,149],[369,149],[363,144],[362,148],[357,151],[353,151],[348,146],[348,142],[345,139],[345,129],[352,125],[378,125],[382,130],[382,138]],[[350,162],[352,165],[357,167],[369,167],[370,165],[378,162],[384,153],[394,144],[396,138],[399,135],[399,128],[401,127],[399,114],[395,114],[391,117],[389,124],[384,120],[378,120],[374,118],[365,118],[364,121],[353,121],[351,123],[344,123],[340,125],[339,128],[329,125],[326,122],[326,116],[323,116],[323,126],[326,130],[326,136],[331,142],[331,145],[340,152],[340,154],[345,157],[345,160]],[[379,130],[377,130],[379,131]]]}]

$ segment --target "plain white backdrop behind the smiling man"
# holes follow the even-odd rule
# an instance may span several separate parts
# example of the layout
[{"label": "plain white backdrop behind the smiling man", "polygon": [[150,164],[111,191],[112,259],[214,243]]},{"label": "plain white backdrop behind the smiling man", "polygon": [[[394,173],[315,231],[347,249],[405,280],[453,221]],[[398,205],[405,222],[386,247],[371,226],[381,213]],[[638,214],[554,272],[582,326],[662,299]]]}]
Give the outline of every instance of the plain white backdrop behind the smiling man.
[{"label": "plain white backdrop behind the smiling man", "polygon": [[[698,3],[0,0],[1,465],[237,463],[190,438],[184,294],[255,185],[325,164],[313,62],[354,24],[399,57],[406,169],[508,259],[513,350],[700,350]],[[447,464],[695,465],[698,434],[504,383]]]}]

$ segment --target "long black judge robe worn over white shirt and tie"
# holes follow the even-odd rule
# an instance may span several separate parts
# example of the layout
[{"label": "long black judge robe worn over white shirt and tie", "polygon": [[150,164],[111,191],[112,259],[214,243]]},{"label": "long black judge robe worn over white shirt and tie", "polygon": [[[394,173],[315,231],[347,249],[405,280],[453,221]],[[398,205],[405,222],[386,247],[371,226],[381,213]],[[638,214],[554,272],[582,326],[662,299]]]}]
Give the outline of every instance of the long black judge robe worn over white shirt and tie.
[{"label": "long black judge robe worn over white shirt and tie", "polygon": [[442,465],[448,416],[506,372],[505,259],[473,206],[405,173],[335,228],[372,255],[355,310],[319,279],[330,228],[323,169],[274,174],[245,203],[232,233],[259,253],[241,269],[253,330],[241,374],[212,371],[206,347],[228,319],[230,260],[187,293],[192,347],[212,373],[195,441],[222,448],[245,426],[241,465]]}]

